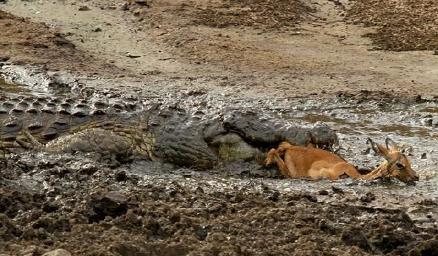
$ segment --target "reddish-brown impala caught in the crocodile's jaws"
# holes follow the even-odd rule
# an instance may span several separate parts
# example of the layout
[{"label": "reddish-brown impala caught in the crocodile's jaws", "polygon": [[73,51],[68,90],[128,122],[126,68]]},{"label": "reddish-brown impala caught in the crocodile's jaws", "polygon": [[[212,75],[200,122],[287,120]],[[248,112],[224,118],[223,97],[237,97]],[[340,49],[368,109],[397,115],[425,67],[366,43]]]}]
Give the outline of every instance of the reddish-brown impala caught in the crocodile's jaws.
[{"label": "reddish-brown impala caught in the crocodile's jaws", "polygon": [[[386,139],[387,147],[383,147],[368,139],[372,148],[385,158],[385,161],[374,171],[361,175],[357,169],[336,154],[313,147],[292,146],[287,142],[280,143],[272,149],[266,158],[266,166],[276,163],[285,177],[329,177],[336,180],[341,175],[354,178],[371,179],[374,177],[396,177],[402,182],[418,180],[418,175],[411,169],[408,158],[400,152],[396,143]],[[284,153],[284,160],[281,154]]]}]

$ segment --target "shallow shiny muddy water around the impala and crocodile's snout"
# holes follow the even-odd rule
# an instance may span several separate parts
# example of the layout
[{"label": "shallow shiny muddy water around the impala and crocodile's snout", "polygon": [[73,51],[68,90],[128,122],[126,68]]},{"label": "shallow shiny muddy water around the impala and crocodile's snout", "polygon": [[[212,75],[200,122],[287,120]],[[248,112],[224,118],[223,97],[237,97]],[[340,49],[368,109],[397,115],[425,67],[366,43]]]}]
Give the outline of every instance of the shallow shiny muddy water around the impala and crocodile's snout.
[{"label": "shallow shiny muddy water around the impala and crocodile's snout", "polygon": [[[34,91],[25,85],[0,82],[3,93],[7,94],[46,94]],[[378,143],[384,143],[390,137],[398,143],[411,158],[411,164],[420,174],[416,186],[406,186],[398,181],[382,182],[380,180],[357,181],[352,179],[338,180],[282,180],[275,169],[264,169],[260,163],[231,162],[211,171],[198,172],[191,169],[175,169],[168,165],[153,162],[133,162],[128,172],[137,175],[144,182],[164,180],[169,184],[178,182],[188,188],[203,190],[263,190],[270,188],[280,193],[291,192],[316,193],[321,190],[331,191],[333,186],[345,195],[365,195],[374,193],[383,195],[385,201],[377,199],[372,204],[383,208],[400,207],[400,201],[408,209],[411,218],[422,223],[431,224],[430,216],[437,219],[438,212],[433,210],[429,217],[416,214],[415,203],[424,198],[438,197],[437,145],[438,104],[400,103],[397,101],[365,100],[358,103],[348,98],[269,98],[248,96],[232,92],[209,91],[200,94],[176,95],[163,91],[144,90],[140,96],[147,103],[178,100],[186,106],[205,106],[217,108],[229,106],[233,108],[264,111],[267,115],[296,122],[300,126],[311,126],[315,122],[325,122],[337,131],[339,152],[358,167],[372,169],[382,159],[370,151],[365,143],[368,137]],[[121,167],[124,170],[126,167]],[[276,172],[277,176],[273,175]],[[268,174],[267,174],[268,173]],[[23,182],[26,182],[23,180]],[[27,181],[27,183],[29,183]],[[30,185],[29,185],[30,186]],[[32,185],[34,186],[34,185]],[[36,186],[36,185],[35,185]],[[348,197],[346,197],[348,198]],[[324,199],[325,201],[327,199]],[[330,202],[328,202],[330,203]],[[424,212],[424,211],[423,211]]]}]

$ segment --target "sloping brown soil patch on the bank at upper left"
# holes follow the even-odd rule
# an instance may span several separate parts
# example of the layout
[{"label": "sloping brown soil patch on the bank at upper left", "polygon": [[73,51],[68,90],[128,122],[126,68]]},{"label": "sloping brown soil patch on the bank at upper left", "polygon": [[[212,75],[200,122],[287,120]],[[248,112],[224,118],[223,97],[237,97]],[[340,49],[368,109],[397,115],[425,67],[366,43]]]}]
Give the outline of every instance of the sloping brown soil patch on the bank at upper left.
[{"label": "sloping brown soil patch on the bank at upper left", "polygon": [[[76,48],[62,33],[0,10],[0,60],[15,65],[38,65],[47,70],[83,74],[112,74],[116,67]],[[91,63],[91,64],[90,64]]]}]

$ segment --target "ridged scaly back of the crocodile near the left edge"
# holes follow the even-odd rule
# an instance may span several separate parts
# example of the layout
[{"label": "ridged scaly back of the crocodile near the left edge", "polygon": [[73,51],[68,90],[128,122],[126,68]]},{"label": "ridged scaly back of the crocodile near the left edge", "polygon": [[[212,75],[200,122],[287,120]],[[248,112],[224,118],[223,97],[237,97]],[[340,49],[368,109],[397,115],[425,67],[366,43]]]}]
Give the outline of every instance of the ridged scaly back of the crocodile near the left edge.
[{"label": "ridged scaly back of the crocodile near the left edge", "polygon": [[[135,112],[136,102],[108,103],[96,99],[51,98],[35,96],[0,97],[0,141],[18,147],[16,139],[27,141],[28,131],[40,143],[47,143],[63,134],[91,127],[113,129],[123,113]],[[105,122],[105,120],[108,120]]]}]

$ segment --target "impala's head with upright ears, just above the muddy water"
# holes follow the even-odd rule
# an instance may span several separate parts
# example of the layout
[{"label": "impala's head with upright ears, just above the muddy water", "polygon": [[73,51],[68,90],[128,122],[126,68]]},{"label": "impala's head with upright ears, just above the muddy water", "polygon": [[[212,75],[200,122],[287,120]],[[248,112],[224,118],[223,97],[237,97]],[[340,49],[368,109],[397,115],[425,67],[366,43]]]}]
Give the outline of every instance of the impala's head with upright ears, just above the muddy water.
[{"label": "impala's head with upright ears, just above the muddy water", "polygon": [[398,180],[404,183],[413,183],[419,179],[417,173],[411,169],[411,162],[409,159],[401,152],[400,148],[392,141],[387,138],[386,148],[383,145],[374,143],[368,138],[372,149],[374,152],[380,154],[385,158],[385,162],[379,167],[381,177],[396,177]]}]

